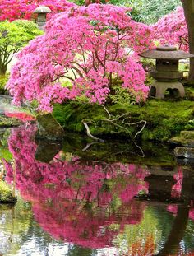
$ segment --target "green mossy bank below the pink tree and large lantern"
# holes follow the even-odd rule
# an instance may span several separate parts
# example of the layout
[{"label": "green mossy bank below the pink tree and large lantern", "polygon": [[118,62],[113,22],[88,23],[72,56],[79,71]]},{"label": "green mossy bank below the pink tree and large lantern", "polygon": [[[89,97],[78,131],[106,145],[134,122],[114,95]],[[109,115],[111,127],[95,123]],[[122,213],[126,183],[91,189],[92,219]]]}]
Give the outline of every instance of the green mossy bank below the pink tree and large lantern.
[{"label": "green mossy bank below the pink tree and large lantern", "polygon": [[[143,106],[114,104],[106,107],[113,118],[128,113],[125,120],[128,123],[146,120],[146,128],[141,133],[144,140],[167,141],[169,137],[182,130],[194,130],[192,123],[194,103],[191,100],[147,100]],[[137,126],[123,125],[123,119],[118,119],[116,123],[125,126],[126,131],[104,121],[109,119],[109,116],[102,106],[76,102],[55,105],[53,116],[62,124],[63,128],[76,133],[85,133],[85,127],[81,123],[82,120],[85,120],[90,126],[90,132],[99,137],[133,137],[142,127],[142,123]]]}]

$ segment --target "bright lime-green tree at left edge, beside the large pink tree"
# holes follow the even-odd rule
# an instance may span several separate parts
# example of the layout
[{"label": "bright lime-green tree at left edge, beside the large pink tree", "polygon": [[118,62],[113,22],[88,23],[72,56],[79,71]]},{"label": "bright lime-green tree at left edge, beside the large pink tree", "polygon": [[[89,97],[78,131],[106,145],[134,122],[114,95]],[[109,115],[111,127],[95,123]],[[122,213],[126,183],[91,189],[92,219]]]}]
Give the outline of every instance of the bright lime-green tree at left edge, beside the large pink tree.
[{"label": "bright lime-green tree at left edge, beside the large pink tree", "polygon": [[13,54],[42,33],[32,21],[0,22],[0,76],[7,72],[7,65],[12,61]]}]

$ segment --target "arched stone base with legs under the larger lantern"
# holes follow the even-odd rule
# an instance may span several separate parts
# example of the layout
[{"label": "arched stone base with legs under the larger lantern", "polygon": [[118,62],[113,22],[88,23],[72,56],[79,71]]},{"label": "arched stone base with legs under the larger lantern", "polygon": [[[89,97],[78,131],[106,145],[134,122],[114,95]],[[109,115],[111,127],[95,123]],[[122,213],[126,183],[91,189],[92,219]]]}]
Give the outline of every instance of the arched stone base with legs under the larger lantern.
[{"label": "arched stone base with legs under the larger lantern", "polygon": [[164,99],[165,91],[168,89],[173,90],[174,95],[184,97],[185,90],[184,86],[179,81],[155,81],[150,88],[150,97],[156,99]]}]

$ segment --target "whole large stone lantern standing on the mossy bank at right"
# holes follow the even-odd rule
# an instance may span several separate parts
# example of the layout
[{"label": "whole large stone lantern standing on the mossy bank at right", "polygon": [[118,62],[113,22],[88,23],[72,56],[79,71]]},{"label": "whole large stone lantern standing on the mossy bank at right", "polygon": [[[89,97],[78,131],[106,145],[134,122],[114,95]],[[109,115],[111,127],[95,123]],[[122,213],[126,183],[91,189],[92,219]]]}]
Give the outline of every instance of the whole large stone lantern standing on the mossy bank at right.
[{"label": "whole large stone lantern standing on the mossy bank at right", "polygon": [[161,46],[156,49],[140,54],[144,58],[155,58],[155,69],[150,71],[150,76],[155,78],[155,83],[151,86],[150,96],[163,99],[165,91],[171,89],[184,96],[184,87],[178,81],[183,77],[183,73],[178,71],[178,60],[183,58],[193,58],[193,54],[188,54],[182,50],[177,50],[173,46]]}]

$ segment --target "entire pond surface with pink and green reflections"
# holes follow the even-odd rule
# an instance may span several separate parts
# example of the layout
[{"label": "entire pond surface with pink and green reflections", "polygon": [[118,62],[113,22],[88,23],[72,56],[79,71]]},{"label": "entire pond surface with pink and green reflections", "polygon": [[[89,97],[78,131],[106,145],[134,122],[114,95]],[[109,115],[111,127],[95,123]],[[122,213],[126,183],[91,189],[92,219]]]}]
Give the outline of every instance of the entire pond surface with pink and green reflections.
[{"label": "entire pond surface with pink and green reflections", "polygon": [[15,207],[0,207],[0,255],[194,255],[194,172],[163,145],[35,141],[1,133]]}]

